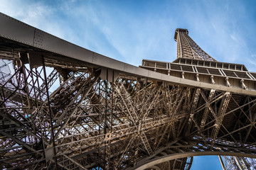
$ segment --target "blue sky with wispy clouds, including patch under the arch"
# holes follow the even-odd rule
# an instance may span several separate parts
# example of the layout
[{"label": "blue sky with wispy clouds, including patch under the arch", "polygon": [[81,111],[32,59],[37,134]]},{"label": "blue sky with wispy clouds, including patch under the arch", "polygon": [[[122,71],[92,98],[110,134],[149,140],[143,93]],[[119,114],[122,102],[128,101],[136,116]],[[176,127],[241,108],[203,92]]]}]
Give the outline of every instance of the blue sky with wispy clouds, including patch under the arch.
[{"label": "blue sky with wispy clouds, including patch under the arch", "polygon": [[[174,30],[187,28],[215,60],[256,72],[256,1],[1,0],[0,11],[136,66],[142,59],[174,61]],[[220,169],[218,157],[196,157],[192,169],[206,169],[211,162],[218,164],[211,169]]]}]

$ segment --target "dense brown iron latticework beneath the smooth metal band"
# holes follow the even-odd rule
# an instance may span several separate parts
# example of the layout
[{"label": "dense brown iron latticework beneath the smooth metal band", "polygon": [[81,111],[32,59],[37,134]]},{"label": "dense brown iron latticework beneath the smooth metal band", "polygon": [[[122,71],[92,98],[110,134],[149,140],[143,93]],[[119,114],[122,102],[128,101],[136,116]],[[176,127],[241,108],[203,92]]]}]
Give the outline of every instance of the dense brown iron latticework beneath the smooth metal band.
[{"label": "dense brown iron latticework beneath the smooth metal band", "polygon": [[256,155],[255,96],[127,74],[106,81],[100,68],[43,52],[6,48],[0,56],[1,169],[133,169],[183,152]]}]

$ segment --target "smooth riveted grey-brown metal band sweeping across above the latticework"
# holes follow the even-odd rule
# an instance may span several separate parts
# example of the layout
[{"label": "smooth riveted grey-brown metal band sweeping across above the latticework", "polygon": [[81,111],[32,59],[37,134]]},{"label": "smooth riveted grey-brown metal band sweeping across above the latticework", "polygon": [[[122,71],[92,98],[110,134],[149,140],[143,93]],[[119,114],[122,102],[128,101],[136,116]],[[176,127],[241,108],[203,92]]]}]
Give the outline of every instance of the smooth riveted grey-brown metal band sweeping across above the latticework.
[{"label": "smooth riveted grey-brown metal band sweeping across above the latticework", "polygon": [[[232,86],[225,86],[223,84],[207,84],[203,81],[191,81],[190,79],[181,79],[174,76],[168,76],[165,74],[159,74],[157,72],[151,72],[146,69],[135,67],[131,64],[119,62],[113,60],[110,57],[97,54],[85,48],[74,45],[70,42],[50,35],[42,30],[28,26],[26,23],[22,23],[14,18],[6,16],[4,13],[0,13],[0,36],[15,42],[21,42],[25,45],[31,45],[41,50],[48,52],[54,52],[63,57],[70,57],[75,60],[87,62],[88,64],[96,65],[97,67],[106,67],[114,69],[118,72],[124,72],[132,74],[137,77],[148,77],[150,79],[156,79],[159,81],[166,81],[174,84],[182,84],[185,86],[197,86],[207,89],[218,89],[220,91],[230,91],[238,94],[255,95],[255,90],[245,90],[233,88]],[[255,83],[254,83],[255,85]]]}]

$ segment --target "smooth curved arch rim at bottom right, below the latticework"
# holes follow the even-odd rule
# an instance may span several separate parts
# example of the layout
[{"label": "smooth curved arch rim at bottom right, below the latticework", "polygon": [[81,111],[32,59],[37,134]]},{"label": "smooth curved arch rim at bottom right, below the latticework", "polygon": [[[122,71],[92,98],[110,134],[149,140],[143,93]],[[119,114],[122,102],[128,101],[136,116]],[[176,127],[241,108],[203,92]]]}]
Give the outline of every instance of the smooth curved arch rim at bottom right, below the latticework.
[{"label": "smooth curved arch rim at bottom right, below the latticework", "polygon": [[196,157],[196,156],[206,156],[206,155],[223,155],[223,156],[234,156],[234,157],[250,157],[255,158],[255,154],[244,154],[244,153],[235,153],[235,152],[212,152],[212,151],[206,151],[206,152],[183,152],[178,154],[171,154],[166,155],[164,157],[158,157],[156,159],[151,159],[147,162],[144,162],[142,164],[138,164],[134,167],[136,170],[142,170],[149,168],[151,166],[154,166],[156,164],[160,164],[161,162],[168,162],[173,159],[180,159],[183,157]]}]

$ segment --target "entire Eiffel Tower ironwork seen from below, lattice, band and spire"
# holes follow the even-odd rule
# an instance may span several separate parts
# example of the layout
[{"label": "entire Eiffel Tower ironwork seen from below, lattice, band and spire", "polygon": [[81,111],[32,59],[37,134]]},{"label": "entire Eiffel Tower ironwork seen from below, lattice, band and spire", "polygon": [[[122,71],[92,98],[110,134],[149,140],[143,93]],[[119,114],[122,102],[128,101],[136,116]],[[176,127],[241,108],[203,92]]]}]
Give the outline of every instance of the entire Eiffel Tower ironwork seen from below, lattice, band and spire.
[{"label": "entire Eiffel Tower ironwork seen from below, lattice, band and spire", "polygon": [[256,73],[178,28],[174,62],[113,60],[0,13],[1,169],[255,169]]}]

